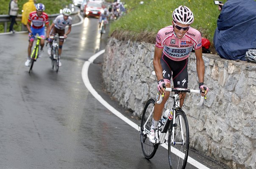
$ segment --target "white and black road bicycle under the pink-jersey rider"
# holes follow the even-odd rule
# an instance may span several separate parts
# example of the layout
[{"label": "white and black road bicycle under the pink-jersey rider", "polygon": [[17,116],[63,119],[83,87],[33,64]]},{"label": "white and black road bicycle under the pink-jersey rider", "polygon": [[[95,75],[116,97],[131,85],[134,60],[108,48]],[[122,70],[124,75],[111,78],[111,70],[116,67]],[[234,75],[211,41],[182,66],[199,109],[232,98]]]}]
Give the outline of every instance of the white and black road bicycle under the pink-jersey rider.
[{"label": "white and black road bicycle under the pink-jersey rider", "polygon": [[[160,144],[168,145],[168,158],[171,169],[185,169],[189,153],[189,125],[186,114],[180,108],[180,99],[183,93],[201,93],[201,90],[191,90],[182,88],[166,88],[165,91],[175,92],[170,95],[169,99],[173,99],[173,107],[168,113],[167,120],[164,125],[159,123],[159,143],[153,144],[149,140],[150,127],[153,119],[153,111],[155,104],[161,104],[164,95],[157,93],[156,100],[150,98],[143,109],[140,130],[140,139],[142,152],[146,159],[151,159],[156,153]],[[179,97],[181,95],[181,98]],[[201,96],[198,106],[203,105],[206,96]],[[163,117],[161,118],[161,120]]]}]

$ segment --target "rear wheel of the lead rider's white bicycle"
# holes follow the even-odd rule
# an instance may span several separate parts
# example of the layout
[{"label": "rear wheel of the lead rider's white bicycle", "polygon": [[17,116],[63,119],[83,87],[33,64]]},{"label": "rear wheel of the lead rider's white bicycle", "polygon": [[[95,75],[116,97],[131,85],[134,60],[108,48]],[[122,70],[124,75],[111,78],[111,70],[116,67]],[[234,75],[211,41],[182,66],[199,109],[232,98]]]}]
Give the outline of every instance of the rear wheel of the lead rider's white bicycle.
[{"label": "rear wheel of the lead rider's white bicycle", "polygon": [[[154,105],[156,101],[153,98],[150,98],[143,109],[142,112],[142,118],[141,118],[141,130],[143,129],[143,125],[145,124],[148,116],[150,115],[150,112],[153,110]],[[153,115],[153,114],[152,114]],[[152,124],[152,119],[149,122],[147,122],[147,125],[145,126],[148,131],[150,131],[150,127]],[[150,142],[149,138],[147,137],[147,134],[142,134],[140,135],[140,141],[141,141],[141,147],[142,147],[142,152],[145,156],[146,159],[151,159],[153,156],[156,154],[156,150],[158,149],[159,144],[153,144]]]}]

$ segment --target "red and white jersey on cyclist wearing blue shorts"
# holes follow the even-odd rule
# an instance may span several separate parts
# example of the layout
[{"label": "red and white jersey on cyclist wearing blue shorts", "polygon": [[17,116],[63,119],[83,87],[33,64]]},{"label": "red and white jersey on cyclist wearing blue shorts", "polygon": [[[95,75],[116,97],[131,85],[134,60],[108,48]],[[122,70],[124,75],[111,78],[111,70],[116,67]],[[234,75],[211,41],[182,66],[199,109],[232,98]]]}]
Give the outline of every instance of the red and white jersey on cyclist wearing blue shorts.
[{"label": "red and white jersey on cyclist wearing blue shorts", "polygon": [[36,14],[36,11],[33,11],[28,16],[28,22],[31,22],[33,28],[39,29],[49,23],[48,15],[43,12],[41,16]]}]

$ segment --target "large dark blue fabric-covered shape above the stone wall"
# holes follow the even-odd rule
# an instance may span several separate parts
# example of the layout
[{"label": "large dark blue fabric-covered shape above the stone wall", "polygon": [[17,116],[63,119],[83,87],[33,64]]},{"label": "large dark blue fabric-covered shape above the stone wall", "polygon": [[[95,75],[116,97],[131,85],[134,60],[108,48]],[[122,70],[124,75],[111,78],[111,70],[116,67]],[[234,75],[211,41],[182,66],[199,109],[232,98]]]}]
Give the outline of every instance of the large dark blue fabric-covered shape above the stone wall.
[{"label": "large dark blue fabric-covered shape above the stone wall", "polygon": [[220,12],[214,46],[221,58],[245,60],[256,49],[256,1],[228,0]]}]

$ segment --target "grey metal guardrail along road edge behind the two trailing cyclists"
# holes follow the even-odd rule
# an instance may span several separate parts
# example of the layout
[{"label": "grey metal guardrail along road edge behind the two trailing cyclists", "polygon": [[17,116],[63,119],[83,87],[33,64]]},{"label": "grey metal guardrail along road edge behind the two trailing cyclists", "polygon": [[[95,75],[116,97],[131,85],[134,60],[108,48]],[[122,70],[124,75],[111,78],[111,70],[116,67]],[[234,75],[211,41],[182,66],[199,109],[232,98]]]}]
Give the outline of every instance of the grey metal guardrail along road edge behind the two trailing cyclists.
[{"label": "grey metal guardrail along road edge behind the two trailing cyclists", "polygon": [[[78,8],[73,8],[73,11],[71,16],[75,16],[78,14],[79,10]],[[50,14],[48,15],[49,21],[52,21],[58,16],[59,14]],[[22,14],[19,14],[16,18],[16,21],[21,21],[21,16]],[[11,22],[10,16],[9,15],[0,15],[0,23],[4,22],[4,32],[7,31],[7,23]],[[22,24],[22,30],[27,30],[26,27]]]}]

